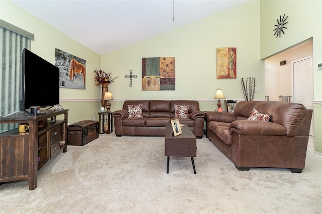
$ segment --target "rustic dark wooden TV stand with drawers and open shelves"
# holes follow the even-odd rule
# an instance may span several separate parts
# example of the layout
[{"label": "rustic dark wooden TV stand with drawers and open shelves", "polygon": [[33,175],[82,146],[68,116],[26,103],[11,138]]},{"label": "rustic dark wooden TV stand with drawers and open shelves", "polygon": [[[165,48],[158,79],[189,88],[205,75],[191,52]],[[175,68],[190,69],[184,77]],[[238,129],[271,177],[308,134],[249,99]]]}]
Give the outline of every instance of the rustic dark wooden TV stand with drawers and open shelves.
[{"label": "rustic dark wooden TV stand with drawers and open shelves", "polygon": [[[68,110],[42,112],[46,114],[30,116],[22,111],[0,118],[1,124],[29,124],[27,133],[19,133],[18,129],[0,133],[0,185],[28,179],[29,190],[33,190],[37,187],[38,170],[61,150],[67,152]],[[51,117],[59,115],[62,120],[50,122]]]}]

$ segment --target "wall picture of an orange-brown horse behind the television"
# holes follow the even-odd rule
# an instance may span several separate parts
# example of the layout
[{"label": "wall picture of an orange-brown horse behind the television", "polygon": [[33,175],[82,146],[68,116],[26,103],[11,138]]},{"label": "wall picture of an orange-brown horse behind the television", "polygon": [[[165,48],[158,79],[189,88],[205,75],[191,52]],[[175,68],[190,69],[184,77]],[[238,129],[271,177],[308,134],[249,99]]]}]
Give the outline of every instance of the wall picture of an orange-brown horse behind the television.
[{"label": "wall picture of an orange-brown horse behind the television", "polygon": [[59,87],[86,89],[86,60],[56,48],[55,65],[59,68]]}]

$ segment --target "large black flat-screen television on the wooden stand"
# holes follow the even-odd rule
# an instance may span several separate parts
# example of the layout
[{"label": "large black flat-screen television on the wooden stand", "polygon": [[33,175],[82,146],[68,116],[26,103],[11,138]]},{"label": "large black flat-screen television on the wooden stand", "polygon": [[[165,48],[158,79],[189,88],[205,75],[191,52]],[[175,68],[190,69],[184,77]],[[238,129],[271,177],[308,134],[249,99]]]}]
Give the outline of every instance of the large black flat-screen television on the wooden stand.
[{"label": "large black flat-screen television on the wooden stand", "polygon": [[22,52],[20,110],[59,104],[59,68],[31,51]]}]

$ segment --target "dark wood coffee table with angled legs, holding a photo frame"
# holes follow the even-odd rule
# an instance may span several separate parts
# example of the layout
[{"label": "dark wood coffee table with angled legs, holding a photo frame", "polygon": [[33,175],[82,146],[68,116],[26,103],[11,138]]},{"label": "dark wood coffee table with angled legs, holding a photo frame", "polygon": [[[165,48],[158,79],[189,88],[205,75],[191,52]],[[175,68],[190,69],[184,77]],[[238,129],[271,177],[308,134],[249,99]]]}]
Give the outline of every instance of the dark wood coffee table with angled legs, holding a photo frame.
[{"label": "dark wood coffee table with angled legs, holding a photo frame", "polygon": [[193,172],[196,174],[195,162],[193,157],[197,157],[196,136],[184,124],[181,127],[182,134],[173,136],[171,124],[166,125],[165,133],[165,156],[167,156],[167,174],[169,174],[170,156],[191,157]]}]

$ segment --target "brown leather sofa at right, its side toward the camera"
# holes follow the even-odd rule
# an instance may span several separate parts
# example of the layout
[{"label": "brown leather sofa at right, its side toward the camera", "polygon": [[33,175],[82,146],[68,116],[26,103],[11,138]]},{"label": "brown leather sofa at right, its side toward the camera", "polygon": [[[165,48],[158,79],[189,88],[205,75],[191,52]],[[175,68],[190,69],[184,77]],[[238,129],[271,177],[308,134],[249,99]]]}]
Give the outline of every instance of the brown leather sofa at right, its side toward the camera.
[{"label": "brown leather sofa at right, its side toward the camera", "polygon": [[[270,122],[247,120],[253,109]],[[305,167],[312,110],[300,103],[241,101],[231,113],[207,112],[207,137],[238,170]]]}]

